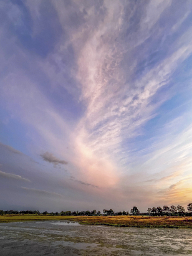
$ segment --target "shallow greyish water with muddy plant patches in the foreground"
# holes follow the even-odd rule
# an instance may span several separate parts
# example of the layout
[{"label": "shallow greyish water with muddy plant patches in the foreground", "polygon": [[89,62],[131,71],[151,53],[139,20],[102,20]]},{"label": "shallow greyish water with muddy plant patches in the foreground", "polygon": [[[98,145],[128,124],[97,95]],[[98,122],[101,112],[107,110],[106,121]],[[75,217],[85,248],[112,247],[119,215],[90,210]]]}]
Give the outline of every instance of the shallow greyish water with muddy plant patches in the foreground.
[{"label": "shallow greyish water with muddy plant patches in the foreground", "polygon": [[70,221],[0,223],[0,256],[24,255],[192,255],[192,230],[89,226]]}]

